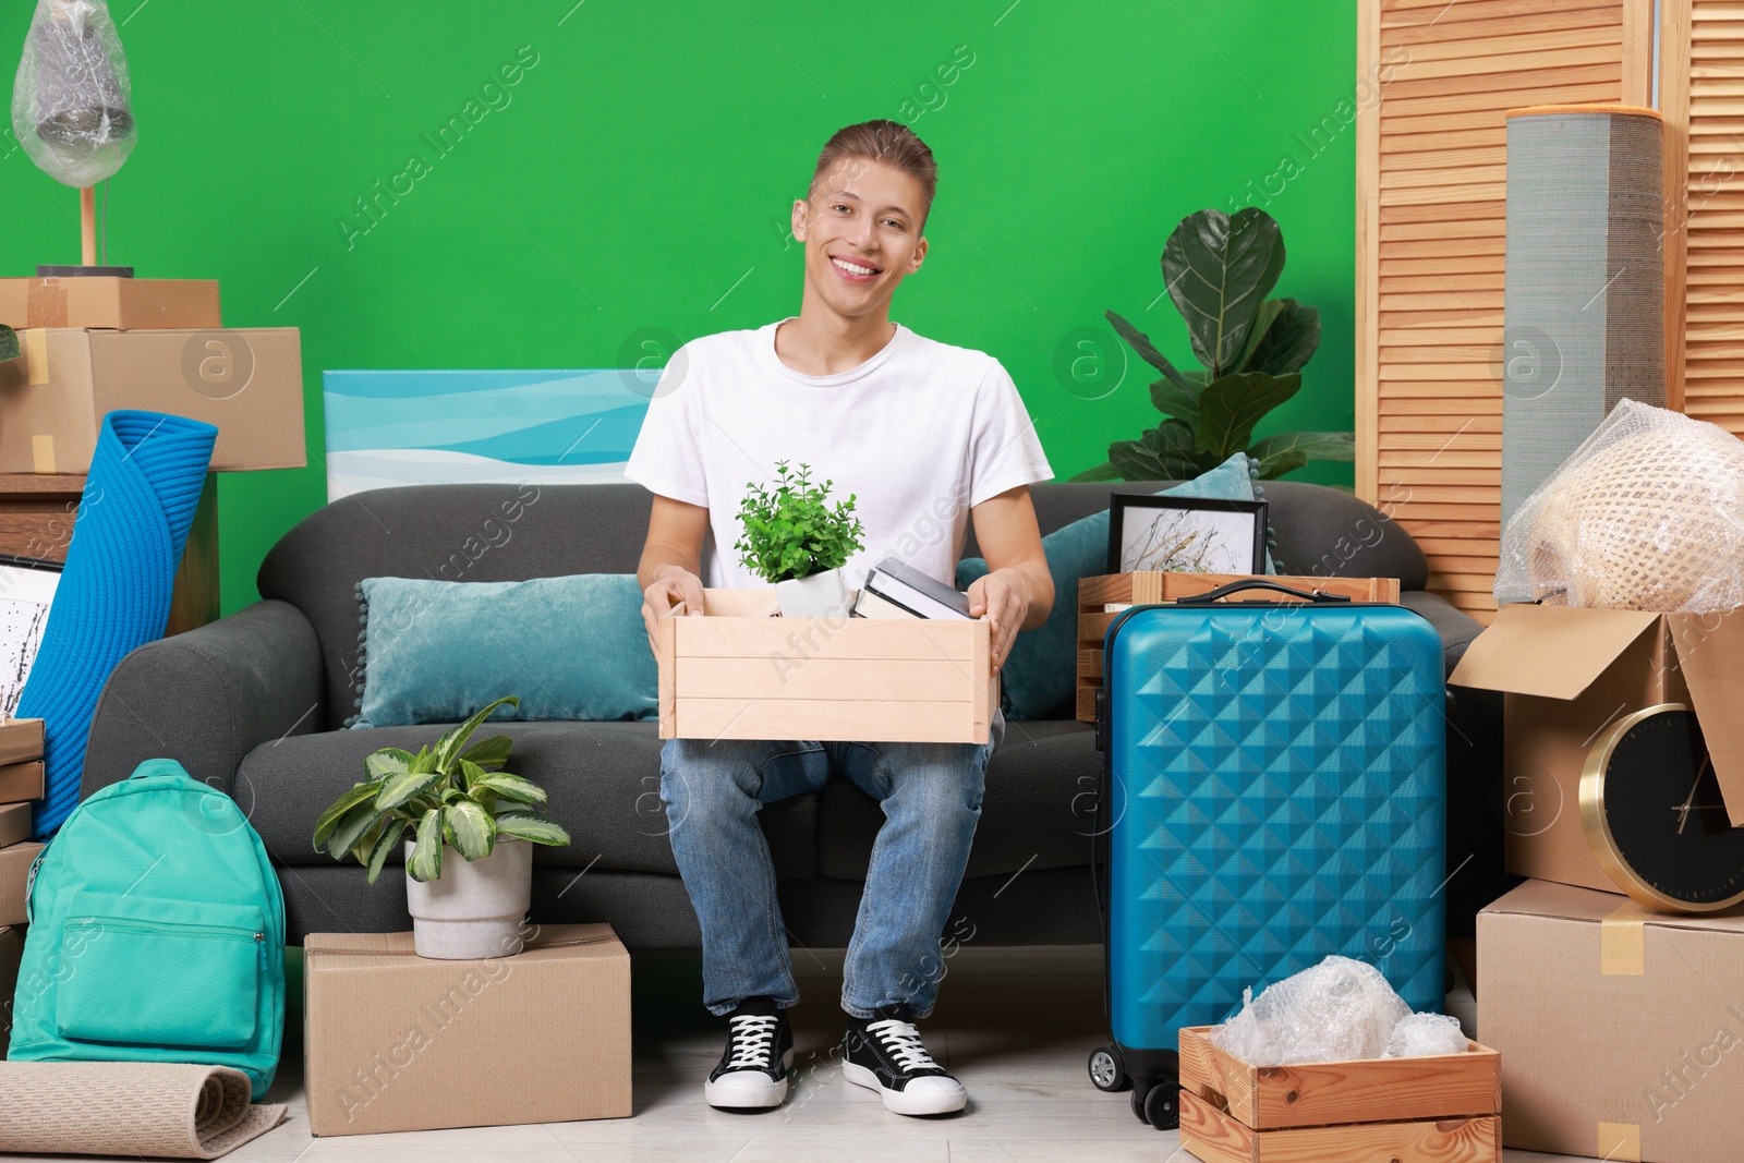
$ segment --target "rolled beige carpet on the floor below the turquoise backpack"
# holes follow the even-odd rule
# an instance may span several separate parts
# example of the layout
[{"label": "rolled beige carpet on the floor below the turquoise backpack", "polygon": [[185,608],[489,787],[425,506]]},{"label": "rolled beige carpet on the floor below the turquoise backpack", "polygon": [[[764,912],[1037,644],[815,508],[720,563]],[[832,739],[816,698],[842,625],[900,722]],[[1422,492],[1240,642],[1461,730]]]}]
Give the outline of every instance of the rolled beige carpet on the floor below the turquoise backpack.
[{"label": "rolled beige carpet on the floor below the turquoise backpack", "polygon": [[0,1062],[0,1151],[216,1160],[284,1121],[248,1076],[180,1062]]}]

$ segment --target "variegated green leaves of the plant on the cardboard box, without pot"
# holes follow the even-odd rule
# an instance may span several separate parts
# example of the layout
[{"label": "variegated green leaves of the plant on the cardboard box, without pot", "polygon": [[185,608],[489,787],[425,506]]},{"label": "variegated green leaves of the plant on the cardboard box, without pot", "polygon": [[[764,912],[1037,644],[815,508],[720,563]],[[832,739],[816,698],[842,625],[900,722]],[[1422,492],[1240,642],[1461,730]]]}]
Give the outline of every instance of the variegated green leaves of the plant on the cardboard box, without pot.
[{"label": "variegated green leaves of the plant on the cardboard box, without pot", "polygon": [[501,837],[569,844],[563,825],[535,811],[546,802],[544,788],[501,771],[514,746],[509,736],[467,746],[480,724],[504,704],[520,706],[520,699],[497,699],[417,755],[398,746],[371,752],[364,758],[368,779],[352,785],[316,821],[316,851],[324,847],[333,860],[351,853],[375,884],[406,828],[417,840],[406,860],[413,881],[438,879],[446,847],[471,861],[490,856]]}]

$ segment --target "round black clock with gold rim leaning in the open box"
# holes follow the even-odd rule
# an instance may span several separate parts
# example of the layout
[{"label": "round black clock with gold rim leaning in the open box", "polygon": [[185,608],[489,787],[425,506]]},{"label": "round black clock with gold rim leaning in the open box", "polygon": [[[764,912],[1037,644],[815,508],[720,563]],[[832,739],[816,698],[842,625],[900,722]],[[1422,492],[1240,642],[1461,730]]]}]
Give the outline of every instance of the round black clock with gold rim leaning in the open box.
[{"label": "round black clock with gold rim leaning in the open box", "polygon": [[1594,741],[1580,821],[1604,874],[1650,908],[1711,912],[1744,900],[1744,828],[1734,828],[1695,713],[1662,703]]}]

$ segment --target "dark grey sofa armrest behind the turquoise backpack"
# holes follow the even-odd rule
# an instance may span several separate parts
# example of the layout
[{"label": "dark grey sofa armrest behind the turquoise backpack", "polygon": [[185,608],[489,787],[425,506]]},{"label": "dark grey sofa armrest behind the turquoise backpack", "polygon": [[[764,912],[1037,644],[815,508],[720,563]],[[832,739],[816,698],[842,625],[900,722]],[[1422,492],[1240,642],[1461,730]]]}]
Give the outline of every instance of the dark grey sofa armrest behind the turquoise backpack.
[{"label": "dark grey sofa armrest behind the turquoise backpack", "polygon": [[[290,602],[255,605],[131,650],[91,718],[82,793],[174,758],[232,790],[242,757],[323,725],[321,643]],[[246,804],[244,804],[246,807]]]}]

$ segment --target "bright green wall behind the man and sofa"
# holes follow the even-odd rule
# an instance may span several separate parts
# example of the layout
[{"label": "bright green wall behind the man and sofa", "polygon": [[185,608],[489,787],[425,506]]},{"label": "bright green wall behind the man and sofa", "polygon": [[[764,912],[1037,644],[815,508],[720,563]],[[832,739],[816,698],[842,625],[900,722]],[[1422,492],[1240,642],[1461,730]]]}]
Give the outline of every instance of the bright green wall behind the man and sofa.
[{"label": "bright green wall behind the man and sofa", "polygon": [[[644,328],[792,314],[788,202],[823,139],[869,117],[914,119],[940,164],[931,253],[893,316],[1005,361],[1059,476],[1155,418],[1104,309],[1189,359],[1155,302],[1158,255],[1202,206],[1264,206],[1289,246],[1278,293],[1320,307],[1306,385],[1263,431],[1352,424],[1353,5],[112,5],[141,127],[110,190],[112,260],[218,277],[227,324],[302,328],[309,467],[221,479],[225,612],[326,499],[323,368],[617,366]],[[3,56],[31,7],[7,5]],[[518,56],[535,63],[487,92]],[[940,87],[954,56],[973,63]],[[426,139],[467,113],[450,152]],[[410,192],[358,214],[415,153]],[[0,272],[77,260],[77,194],[10,138],[0,207]],[[1095,387],[1055,373],[1081,328],[1111,359]],[[1350,466],[1298,476],[1348,483]]]}]

